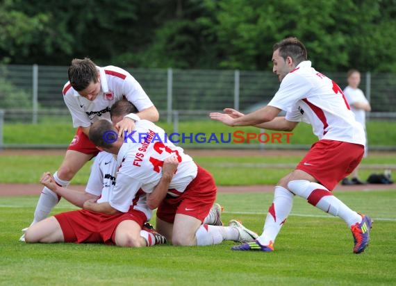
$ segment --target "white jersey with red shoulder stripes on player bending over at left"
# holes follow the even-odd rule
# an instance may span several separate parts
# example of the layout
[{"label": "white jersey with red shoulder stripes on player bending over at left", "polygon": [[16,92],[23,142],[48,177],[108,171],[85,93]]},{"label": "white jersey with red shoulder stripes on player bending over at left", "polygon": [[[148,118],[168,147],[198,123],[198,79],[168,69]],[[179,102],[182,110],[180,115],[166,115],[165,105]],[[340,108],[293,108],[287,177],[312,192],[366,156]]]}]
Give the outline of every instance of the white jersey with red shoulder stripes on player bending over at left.
[{"label": "white jersey with red shoulder stripes on player bending over at left", "polygon": [[94,101],[80,96],[69,81],[63,87],[63,99],[72,114],[74,127],[89,127],[99,119],[110,120],[110,107],[123,96],[138,110],[154,106],[138,81],[129,72],[111,65],[98,67],[98,69],[101,92]]}]

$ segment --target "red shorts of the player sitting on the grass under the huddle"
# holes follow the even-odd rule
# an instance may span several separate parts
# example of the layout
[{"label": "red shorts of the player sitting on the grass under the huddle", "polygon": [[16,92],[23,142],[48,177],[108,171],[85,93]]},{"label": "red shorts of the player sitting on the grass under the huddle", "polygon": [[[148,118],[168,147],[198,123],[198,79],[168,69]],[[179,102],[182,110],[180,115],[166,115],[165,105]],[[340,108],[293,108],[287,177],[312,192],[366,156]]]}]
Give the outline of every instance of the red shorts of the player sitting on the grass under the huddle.
[{"label": "red shorts of the player sitting on the grass under the huddle", "polygon": [[135,221],[141,227],[147,221],[144,212],[129,210],[119,214],[102,214],[90,210],[72,210],[55,214],[65,242],[115,244],[115,229],[122,221]]}]

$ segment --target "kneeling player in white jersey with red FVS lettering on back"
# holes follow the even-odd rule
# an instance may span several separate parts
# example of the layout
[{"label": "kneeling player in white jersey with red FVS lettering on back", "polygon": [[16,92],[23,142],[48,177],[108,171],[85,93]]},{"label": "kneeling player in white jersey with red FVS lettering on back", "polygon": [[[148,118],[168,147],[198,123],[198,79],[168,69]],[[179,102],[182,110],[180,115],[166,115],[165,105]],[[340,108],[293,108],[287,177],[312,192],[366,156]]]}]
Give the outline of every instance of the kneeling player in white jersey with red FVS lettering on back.
[{"label": "kneeling player in white jersey with red FVS lettering on back", "polygon": [[[129,114],[129,111],[113,114],[123,103],[130,104],[121,101],[112,107],[113,123]],[[106,120],[92,124],[90,140],[99,149],[117,154],[120,167],[109,201],[92,202],[85,207],[94,212],[127,212],[126,202],[142,190],[147,193],[149,207],[158,207],[156,230],[174,245],[203,246],[220,244],[223,240],[249,242],[258,236],[236,220],[231,220],[229,226],[202,224],[216,198],[213,177],[197,166],[183,149],[168,141],[162,128],[151,121],[132,118],[136,120],[135,131],[124,138],[111,137],[117,128]],[[163,182],[161,169],[165,160],[179,164],[174,176],[165,181],[167,189],[156,187]]]}]

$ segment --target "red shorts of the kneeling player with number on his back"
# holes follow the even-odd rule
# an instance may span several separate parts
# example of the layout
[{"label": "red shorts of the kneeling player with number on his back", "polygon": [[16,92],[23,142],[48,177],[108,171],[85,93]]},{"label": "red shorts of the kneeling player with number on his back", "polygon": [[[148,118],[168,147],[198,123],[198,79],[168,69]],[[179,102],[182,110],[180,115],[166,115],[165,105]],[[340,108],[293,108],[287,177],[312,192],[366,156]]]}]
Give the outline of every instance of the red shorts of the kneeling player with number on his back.
[{"label": "red shorts of the kneeling player with number on his back", "polygon": [[216,200],[217,187],[213,176],[198,166],[197,176],[180,196],[167,194],[160,203],[157,217],[173,224],[177,214],[185,214],[204,221]]}]

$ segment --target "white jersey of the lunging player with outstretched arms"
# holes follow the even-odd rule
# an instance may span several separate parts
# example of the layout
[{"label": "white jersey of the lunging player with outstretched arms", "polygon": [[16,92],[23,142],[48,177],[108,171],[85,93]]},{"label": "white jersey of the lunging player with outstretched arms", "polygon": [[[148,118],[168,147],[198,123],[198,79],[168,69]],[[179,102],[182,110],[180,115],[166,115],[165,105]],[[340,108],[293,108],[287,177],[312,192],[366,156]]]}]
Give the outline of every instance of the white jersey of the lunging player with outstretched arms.
[{"label": "white jersey of the lunging player with outstretched arms", "polygon": [[269,106],[286,110],[289,121],[304,121],[313,126],[321,140],[365,144],[365,133],[354,119],[343,91],[306,60],[283,78]]}]

